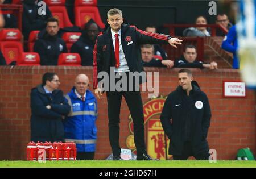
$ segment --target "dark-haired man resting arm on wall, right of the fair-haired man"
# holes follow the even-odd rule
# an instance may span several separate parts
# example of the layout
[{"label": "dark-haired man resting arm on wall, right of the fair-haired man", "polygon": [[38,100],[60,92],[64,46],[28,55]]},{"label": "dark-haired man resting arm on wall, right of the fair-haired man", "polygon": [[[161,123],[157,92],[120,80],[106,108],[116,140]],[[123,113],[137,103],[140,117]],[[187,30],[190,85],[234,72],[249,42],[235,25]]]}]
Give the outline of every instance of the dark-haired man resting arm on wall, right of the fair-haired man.
[{"label": "dark-haired man resting arm on wall, right of the fair-haired man", "polygon": [[194,45],[187,45],[183,56],[174,61],[174,67],[177,68],[209,68],[217,69],[218,64],[212,61],[210,64],[204,64],[202,61],[196,60],[197,53]]}]

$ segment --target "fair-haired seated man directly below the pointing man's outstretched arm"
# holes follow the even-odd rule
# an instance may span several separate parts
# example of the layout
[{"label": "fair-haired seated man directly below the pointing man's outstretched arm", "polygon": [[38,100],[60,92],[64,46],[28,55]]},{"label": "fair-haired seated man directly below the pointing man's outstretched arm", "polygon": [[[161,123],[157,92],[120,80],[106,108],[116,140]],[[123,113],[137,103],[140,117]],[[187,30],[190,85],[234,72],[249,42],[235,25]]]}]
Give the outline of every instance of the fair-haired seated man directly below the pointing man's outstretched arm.
[{"label": "fair-haired seated man directly below the pointing man's outstretched arm", "polygon": [[154,58],[154,45],[142,45],[141,46],[141,58],[144,67],[166,67],[172,68],[174,61],[171,60],[159,60]]}]

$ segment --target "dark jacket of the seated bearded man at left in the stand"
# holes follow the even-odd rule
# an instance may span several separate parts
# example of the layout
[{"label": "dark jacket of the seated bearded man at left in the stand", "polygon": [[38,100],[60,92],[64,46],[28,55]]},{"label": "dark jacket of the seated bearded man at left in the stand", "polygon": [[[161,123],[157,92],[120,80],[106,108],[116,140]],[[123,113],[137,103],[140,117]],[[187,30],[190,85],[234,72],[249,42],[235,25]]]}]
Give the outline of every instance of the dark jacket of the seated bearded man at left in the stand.
[{"label": "dark jacket of the seated bearded man at left in the stand", "polygon": [[60,53],[68,51],[63,39],[46,32],[42,38],[36,40],[34,52],[39,53],[41,65],[57,65]]}]

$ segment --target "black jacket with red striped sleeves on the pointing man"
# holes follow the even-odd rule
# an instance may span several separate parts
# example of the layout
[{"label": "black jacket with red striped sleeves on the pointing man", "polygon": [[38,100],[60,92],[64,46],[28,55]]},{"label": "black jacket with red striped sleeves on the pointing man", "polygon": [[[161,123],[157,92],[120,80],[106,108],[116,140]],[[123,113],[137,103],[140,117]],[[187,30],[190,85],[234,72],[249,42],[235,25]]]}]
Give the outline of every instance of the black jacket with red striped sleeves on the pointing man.
[{"label": "black jacket with red striped sleeves on the pointing man", "polygon": [[[142,72],[143,65],[141,59],[142,44],[167,43],[167,35],[145,32],[135,26],[123,23],[121,27],[121,44],[130,72]],[[110,74],[110,67],[115,66],[114,47],[110,26],[107,24],[104,32],[98,35],[93,50],[93,89],[97,88],[97,78],[99,72]]]}]

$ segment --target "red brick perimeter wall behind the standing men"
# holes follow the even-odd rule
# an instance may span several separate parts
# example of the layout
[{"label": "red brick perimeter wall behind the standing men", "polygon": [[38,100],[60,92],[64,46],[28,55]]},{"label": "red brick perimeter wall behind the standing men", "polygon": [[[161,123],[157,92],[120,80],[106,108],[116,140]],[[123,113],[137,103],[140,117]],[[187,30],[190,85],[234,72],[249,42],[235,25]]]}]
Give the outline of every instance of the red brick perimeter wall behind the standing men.
[{"label": "red brick perimeter wall behind the standing men", "polygon": [[[146,68],[159,71],[159,94],[168,95],[177,87],[179,69]],[[0,67],[0,160],[26,160],[26,146],[30,141],[30,90],[41,83],[42,74],[59,75],[60,89],[67,93],[77,74],[85,73],[92,84],[91,67],[69,66],[1,66]],[[214,71],[192,69],[194,79],[208,95],[212,109],[208,141],[217,150],[217,160],[233,160],[237,149],[250,147],[255,153],[255,91],[246,90],[246,98],[223,98],[222,81],[240,80],[235,69]],[[90,85],[92,90],[92,85]],[[143,103],[149,101],[142,93]],[[121,106],[122,148],[126,147],[129,111],[126,103]],[[103,160],[110,153],[106,95],[98,102],[98,140],[96,159]]]}]

